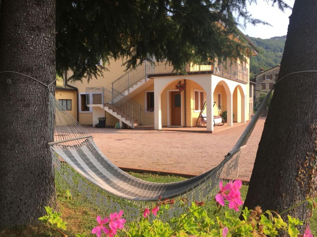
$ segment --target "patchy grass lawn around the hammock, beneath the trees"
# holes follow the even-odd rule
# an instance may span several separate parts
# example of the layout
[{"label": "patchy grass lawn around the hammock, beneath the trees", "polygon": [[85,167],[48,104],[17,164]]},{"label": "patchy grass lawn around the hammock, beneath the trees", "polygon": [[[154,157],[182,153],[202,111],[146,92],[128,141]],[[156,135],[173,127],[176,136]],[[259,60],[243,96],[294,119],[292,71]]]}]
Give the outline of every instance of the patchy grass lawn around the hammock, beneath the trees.
[{"label": "patchy grass lawn around the hammock, beneath the trees", "polygon": [[[167,183],[167,182],[176,182],[185,180],[186,178],[173,176],[173,175],[159,175],[159,174],[149,174],[149,173],[133,173],[130,172],[134,177],[151,181],[151,182],[159,182],[159,183]],[[92,228],[95,227],[96,221],[95,218],[98,213],[94,212],[90,208],[90,204],[82,204],[80,202],[76,202],[75,199],[72,201],[66,202],[63,193],[59,187],[56,187],[57,195],[58,195],[58,204],[60,208],[60,212],[63,214],[63,221],[67,222],[67,231],[69,237],[75,237],[77,233],[82,234],[86,233],[86,236],[96,236],[90,234]],[[241,197],[244,200],[248,191],[248,186],[243,185],[241,188]],[[206,204],[206,210],[212,216],[213,211],[216,209],[214,203]],[[230,210],[228,207],[223,208],[223,210],[218,214],[218,216],[224,216],[225,211],[230,211],[233,215],[238,216],[240,213],[234,210]],[[314,212],[314,216],[311,219],[311,230],[312,234],[317,235],[317,211]],[[5,229],[0,231],[0,237],[57,237],[61,236],[59,233],[51,233],[49,228],[44,224],[39,224],[36,226],[28,226],[21,227],[19,229],[11,230]],[[124,233],[119,233],[119,236],[125,236]]]}]

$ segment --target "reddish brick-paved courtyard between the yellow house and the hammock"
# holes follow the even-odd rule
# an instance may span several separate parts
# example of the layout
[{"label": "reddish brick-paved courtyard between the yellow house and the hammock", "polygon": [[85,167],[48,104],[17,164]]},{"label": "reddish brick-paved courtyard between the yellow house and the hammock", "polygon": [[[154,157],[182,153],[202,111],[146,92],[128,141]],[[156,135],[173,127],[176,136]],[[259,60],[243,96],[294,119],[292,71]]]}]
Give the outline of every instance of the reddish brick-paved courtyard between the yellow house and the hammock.
[{"label": "reddish brick-paved courtyard between the yellow house and the hammock", "polygon": [[[239,179],[249,181],[265,119],[259,119],[240,158]],[[217,133],[87,127],[100,150],[118,167],[198,175],[217,166],[246,125]]]}]

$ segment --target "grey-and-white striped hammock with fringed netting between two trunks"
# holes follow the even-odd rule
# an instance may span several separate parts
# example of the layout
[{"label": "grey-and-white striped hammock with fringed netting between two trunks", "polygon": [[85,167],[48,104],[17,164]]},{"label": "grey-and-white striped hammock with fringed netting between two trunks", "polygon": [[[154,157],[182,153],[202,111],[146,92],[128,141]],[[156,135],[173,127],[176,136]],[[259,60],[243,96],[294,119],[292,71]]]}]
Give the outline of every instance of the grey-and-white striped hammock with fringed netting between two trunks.
[{"label": "grey-and-white striped hammock with fringed netting between two trunks", "polygon": [[[100,213],[125,211],[127,221],[137,220],[140,210],[155,206],[159,197],[208,201],[214,198],[221,179],[235,179],[239,157],[259,119],[271,91],[253,116],[233,149],[215,168],[191,179],[173,183],[152,183],[135,178],[115,166],[98,149],[93,138],[50,94],[51,119],[54,120],[54,143],[50,143],[56,182]],[[208,149],[208,147],[205,147]],[[80,174],[80,175],[78,175]],[[190,204],[190,202],[189,202]],[[161,219],[171,219],[186,207],[174,207]]]}]

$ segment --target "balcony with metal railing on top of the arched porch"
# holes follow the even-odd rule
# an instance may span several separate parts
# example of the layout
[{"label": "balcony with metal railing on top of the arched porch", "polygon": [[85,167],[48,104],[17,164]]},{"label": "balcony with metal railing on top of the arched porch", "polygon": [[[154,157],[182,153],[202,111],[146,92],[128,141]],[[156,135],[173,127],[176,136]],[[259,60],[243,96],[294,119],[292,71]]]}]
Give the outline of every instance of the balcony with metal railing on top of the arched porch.
[{"label": "balcony with metal railing on top of the arched porch", "polygon": [[[248,68],[229,60],[226,63],[218,63],[217,61],[214,61],[214,63],[211,65],[188,64],[185,68],[185,71],[188,75],[214,74],[233,81],[242,82],[244,84],[247,84],[249,81]],[[157,77],[177,75],[182,74],[174,72],[174,68],[172,65],[164,62],[156,62],[153,73],[149,74],[148,76]]]}]

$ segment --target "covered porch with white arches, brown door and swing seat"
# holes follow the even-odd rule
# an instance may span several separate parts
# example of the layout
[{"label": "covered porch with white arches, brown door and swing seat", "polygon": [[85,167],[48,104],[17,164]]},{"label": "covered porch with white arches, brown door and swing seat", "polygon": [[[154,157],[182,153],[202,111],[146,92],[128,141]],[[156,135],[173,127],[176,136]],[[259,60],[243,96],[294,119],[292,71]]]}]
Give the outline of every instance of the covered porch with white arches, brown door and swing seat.
[{"label": "covered porch with white arches, brown door and swing seat", "polygon": [[[214,74],[152,77],[155,130],[216,132],[249,120],[247,82],[224,79]],[[186,84],[182,92],[175,89],[178,81]],[[204,114],[203,127],[197,127],[201,113]],[[224,125],[214,125],[214,116],[225,114]]]}]

